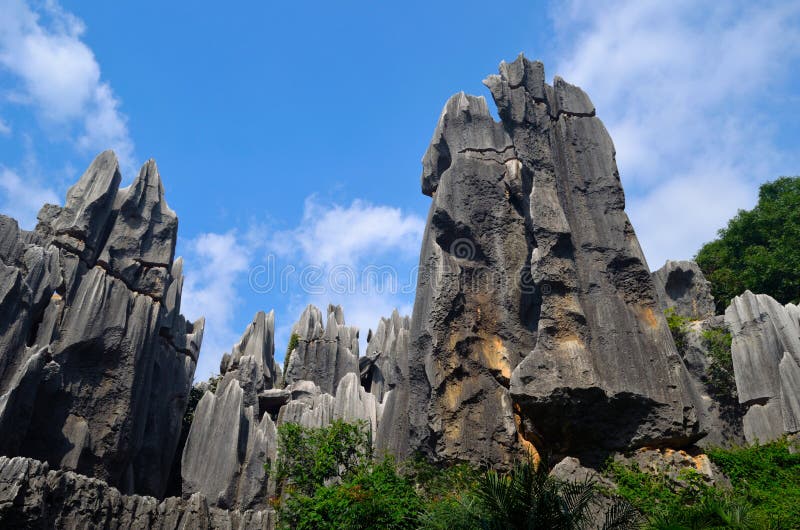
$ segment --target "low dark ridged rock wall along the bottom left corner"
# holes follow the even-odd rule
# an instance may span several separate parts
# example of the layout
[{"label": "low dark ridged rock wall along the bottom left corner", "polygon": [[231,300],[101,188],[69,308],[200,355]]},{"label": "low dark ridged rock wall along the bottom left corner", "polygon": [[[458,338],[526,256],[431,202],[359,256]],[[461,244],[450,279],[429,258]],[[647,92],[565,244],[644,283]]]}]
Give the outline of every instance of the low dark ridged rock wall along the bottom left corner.
[{"label": "low dark ridged rock wall along the bottom left corner", "polygon": [[226,528],[268,530],[272,510],[223,510],[201,494],[188,499],[123,495],[105,482],[51,470],[30,458],[0,457],[0,527],[3,528]]}]

